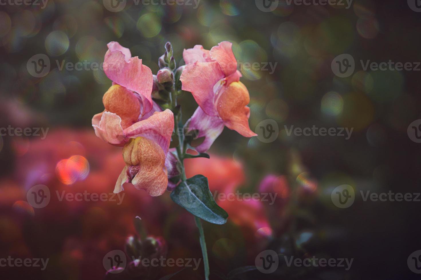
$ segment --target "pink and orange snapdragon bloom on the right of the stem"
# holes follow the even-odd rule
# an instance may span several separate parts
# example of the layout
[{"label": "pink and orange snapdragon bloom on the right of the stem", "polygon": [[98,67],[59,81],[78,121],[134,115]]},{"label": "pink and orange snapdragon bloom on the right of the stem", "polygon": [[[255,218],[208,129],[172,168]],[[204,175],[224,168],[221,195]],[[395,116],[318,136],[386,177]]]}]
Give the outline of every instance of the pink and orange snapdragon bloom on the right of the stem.
[{"label": "pink and orange snapdragon bloom on the right of the stem", "polygon": [[186,68],[180,77],[182,89],[191,92],[199,105],[186,126],[199,130],[198,137],[205,137],[195,147],[197,151],[206,152],[224,126],[245,137],[256,136],[248,125],[250,108],[246,105],[250,95],[240,82],[242,75],[237,70],[232,43],[224,41],[210,50],[195,45],[184,50],[183,58]]}]

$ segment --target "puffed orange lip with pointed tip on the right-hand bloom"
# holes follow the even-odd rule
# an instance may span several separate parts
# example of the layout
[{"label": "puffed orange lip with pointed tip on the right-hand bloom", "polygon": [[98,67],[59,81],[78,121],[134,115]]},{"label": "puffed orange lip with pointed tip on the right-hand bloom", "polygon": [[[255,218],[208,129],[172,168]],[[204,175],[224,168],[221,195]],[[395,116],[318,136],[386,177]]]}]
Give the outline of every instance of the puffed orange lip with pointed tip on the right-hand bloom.
[{"label": "puffed orange lip with pointed tip on the right-hand bloom", "polygon": [[245,85],[233,82],[220,94],[216,108],[225,126],[245,137],[256,136],[257,134],[251,131],[248,125],[250,108],[246,105],[250,102],[250,96]]}]

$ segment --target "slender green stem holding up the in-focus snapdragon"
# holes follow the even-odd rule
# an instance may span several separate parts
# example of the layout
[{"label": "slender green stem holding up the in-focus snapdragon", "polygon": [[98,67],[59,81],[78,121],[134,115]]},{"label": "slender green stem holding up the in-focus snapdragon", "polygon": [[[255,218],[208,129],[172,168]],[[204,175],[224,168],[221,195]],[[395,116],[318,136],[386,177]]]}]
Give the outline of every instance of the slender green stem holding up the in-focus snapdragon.
[{"label": "slender green stem holding up the in-focus snapdragon", "polygon": [[[175,89],[171,90],[171,106],[173,109],[177,106],[177,92]],[[181,180],[186,181],[187,177],[186,177],[186,172],[184,171],[184,154],[186,153],[187,146],[186,146],[186,143],[184,143],[184,137],[182,133],[179,133],[180,131],[179,120],[180,120],[180,114],[181,114],[180,112],[174,115],[174,123],[175,123],[174,131],[179,139],[179,145],[177,146],[177,156],[179,158],[180,165],[181,165],[181,170],[180,170]],[[181,147],[183,147],[183,151],[181,151]],[[203,264],[205,266],[205,279],[208,280],[209,279],[209,260],[208,260],[208,251],[206,249],[205,233],[203,233],[202,222],[199,217],[195,216],[195,222],[196,222],[197,228],[199,229],[199,235],[200,235],[199,241],[200,241],[200,247],[202,248]]]}]

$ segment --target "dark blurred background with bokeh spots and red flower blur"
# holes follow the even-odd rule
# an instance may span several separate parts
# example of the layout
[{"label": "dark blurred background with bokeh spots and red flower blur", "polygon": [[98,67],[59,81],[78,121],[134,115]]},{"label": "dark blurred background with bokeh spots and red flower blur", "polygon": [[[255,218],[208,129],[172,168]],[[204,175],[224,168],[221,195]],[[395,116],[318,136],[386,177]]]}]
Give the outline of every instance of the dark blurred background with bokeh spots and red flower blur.
[{"label": "dark blurred background with bokeh spots and red flower blur", "polygon": [[[121,148],[101,141],[91,127],[111,85],[99,67],[108,42],[128,47],[156,74],[167,41],[178,67],[184,48],[209,50],[227,40],[250,92],[250,128],[259,136],[225,128],[210,159],[186,160],[187,177],[208,177],[212,194],[242,194],[216,198],[229,214],[225,225],[204,222],[210,279],[419,279],[410,255],[421,249],[421,202],[364,201],[360,193],[420,192],[416,1],[297,2],[1,1],[0,259],[49,259],[44,270],[2,265],[2,278],[160,279],[178,272],[171,279],[203,279],[203,264],[152,271],[133,267],[129,257],[124,271],[106,275],[104,256],[127,253],[139,239],[155,256],[201,258],[194,219],[169,192],[150,197],[125,188],[120,204],[117,196],[60,201],[58,194],[108,195],[124,166]],[[352,73],[335,70],[341,54],[354,59]],[[31,64],[40,58],[48,65],[42,73]],[[389,60],[413,69],[363,67]],[[197,104],[191,94],[179,104],[186,121]],[[414,136],[410,124],[417,120]],[[313,126],[352,133],[290,133]],[[261,127],[275,136],[262,137]],[[35,208],[27,192],[40,184],[51,199]],[[333,201],[342,185],[355,193],[345,208]],[[277,196],[271,203],[269,196],[246,201],[244,194]],[[271,273],[256,269],[266,250],[279,257]],[[284,256],[353,262],[349,270],[288,266]]]}]

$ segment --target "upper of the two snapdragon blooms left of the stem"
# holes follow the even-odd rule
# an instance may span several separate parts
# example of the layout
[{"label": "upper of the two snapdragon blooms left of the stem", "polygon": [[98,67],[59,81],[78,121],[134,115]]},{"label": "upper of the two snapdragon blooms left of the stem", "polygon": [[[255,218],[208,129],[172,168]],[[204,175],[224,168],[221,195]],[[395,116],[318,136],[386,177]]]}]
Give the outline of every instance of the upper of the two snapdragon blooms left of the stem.
[{"label": "upper of the two snapdragon blooms left of the stem", "polygon": [[123,146],[136,132],[131,126],[161,111],[152,101],[153,76],[149,67],[128,48],[117,42],[107,44],[104,72],[113,81],[104,94],[105,110],[92,118],[96,136],[115,146]]}]

